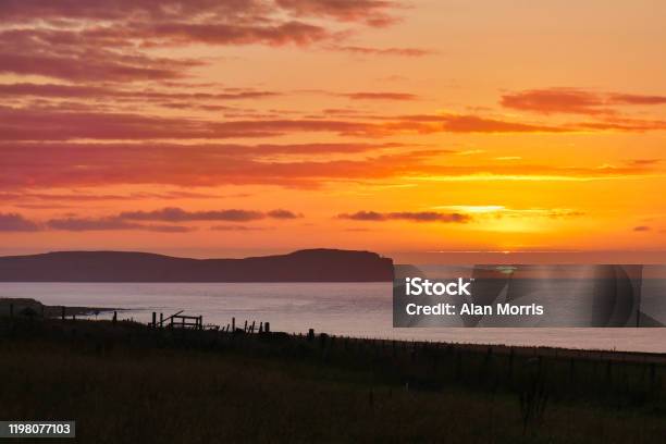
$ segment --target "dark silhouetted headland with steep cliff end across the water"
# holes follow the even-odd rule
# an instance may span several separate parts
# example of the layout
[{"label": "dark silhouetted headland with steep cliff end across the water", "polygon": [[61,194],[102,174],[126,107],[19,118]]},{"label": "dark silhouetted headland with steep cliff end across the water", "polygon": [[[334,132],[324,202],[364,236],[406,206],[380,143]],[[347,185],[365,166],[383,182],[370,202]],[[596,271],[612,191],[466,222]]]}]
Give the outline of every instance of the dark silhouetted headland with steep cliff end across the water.
[{"label": "dark silhouetted headland with steep cliff end across the water", "polygon": [[370,251],[307,249],[245,259],[59,251],[0,257],[1,282],[378,282],[393,261]]}]

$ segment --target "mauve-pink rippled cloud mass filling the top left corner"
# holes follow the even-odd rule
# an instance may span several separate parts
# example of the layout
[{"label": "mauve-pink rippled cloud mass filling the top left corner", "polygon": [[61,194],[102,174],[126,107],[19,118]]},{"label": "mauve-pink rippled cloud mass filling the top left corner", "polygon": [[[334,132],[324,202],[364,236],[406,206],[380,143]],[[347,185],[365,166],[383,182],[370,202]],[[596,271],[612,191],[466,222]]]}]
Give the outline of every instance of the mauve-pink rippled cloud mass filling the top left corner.
[{"label": "mauve-pink rippled cloud mass filling the top left corner", "polygon": [[0,73],[74,82],[182,78],[201,62],[149,49],[310,46],[340,40],[335,24],[390,25],[395,9],[379,0],[9,0],[0,2]]}]

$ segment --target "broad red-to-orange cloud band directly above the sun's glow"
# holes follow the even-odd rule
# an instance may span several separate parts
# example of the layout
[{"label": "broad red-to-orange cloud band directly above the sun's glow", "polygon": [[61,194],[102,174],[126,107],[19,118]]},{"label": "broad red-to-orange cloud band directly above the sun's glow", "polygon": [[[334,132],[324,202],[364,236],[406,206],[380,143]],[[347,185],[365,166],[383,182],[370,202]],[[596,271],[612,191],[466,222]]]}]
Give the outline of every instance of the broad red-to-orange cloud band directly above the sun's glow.
[{"label": "broad red-to-orange cloud band directly above the sun's glow", "polygon": [[[641,177],[658,173],[658,164],[558,166],[522,162],[456,165],[443,163],[451,150],[391,149],[391,145],[218,146],[178,144],[0,144],[8,174],[0,187],[83,187],[113,184],[175,186],[279,185],[312,188],[329,182],[408,178],[445,181],[590,181]],[[383,151],[387,149],[387,151]],[[347,151],[348,150],[348,151]],[[354,159],[309,160],[325,152],[358,155]],[[280,160],[274,160],[280,156]],[[316,158],[317,159],[317,158]],[[15,194],[15,193],[14,193]]]}]

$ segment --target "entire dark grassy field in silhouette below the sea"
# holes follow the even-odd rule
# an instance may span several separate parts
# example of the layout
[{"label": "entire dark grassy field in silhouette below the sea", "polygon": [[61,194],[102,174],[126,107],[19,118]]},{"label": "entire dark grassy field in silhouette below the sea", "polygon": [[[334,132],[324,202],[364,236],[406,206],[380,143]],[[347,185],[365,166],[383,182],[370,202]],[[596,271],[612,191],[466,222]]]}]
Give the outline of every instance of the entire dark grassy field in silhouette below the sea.
[{"label": "entire dark grassy field in silhouette below the sea", "polygon": [[663,442],[662,363],[539,356],[4,319],[0,419],[85,443]]}]

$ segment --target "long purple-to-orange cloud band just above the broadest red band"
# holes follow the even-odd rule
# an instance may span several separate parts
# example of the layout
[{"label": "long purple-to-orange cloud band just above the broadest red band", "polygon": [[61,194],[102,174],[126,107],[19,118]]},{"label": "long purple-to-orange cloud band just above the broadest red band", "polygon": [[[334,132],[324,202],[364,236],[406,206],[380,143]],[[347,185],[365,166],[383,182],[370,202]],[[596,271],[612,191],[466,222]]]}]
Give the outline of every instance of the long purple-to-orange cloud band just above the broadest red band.
[{"label": "long purple-to-orange cloud band just above the broadest red band", "polygon": [[0,107],[0,140],[225,139],[330,133],[346,137],[400,134],[529,134],[665,130],[664,121],[614,120],[546,125],[473,114],[412,114],[329,119],[201,120],[134,113]]}]

